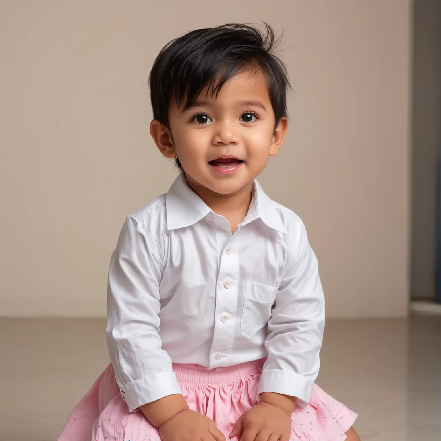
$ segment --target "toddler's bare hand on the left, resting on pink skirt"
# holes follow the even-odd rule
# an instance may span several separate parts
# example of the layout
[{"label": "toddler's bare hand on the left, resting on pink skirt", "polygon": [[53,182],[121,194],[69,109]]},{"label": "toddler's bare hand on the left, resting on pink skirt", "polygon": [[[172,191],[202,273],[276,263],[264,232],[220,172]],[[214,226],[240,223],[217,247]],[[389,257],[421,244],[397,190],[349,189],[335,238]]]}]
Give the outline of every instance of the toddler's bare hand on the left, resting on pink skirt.
[{"label": "toddler's bare hand on the left, resting on pink skirt", "polygon": [[225,441],[214,421],[186,409],[159,427],[163,441]]}]

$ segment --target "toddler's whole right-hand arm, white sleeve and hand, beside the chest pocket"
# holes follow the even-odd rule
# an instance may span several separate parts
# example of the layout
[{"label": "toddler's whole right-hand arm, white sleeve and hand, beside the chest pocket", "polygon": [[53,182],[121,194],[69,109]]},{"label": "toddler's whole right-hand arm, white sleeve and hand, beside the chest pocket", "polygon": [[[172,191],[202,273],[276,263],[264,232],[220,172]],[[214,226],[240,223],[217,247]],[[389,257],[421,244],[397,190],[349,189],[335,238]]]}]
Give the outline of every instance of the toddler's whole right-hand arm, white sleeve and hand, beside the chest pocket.
[{"label": "toddler's whole right-hand arm, white sleeve and hand, beside the chest pocket", "polygon": [[306,407],[309,402],[320,365],[325,301],[317,259],[303,223],[292,250],[268,322],[268,358],[258,387],[260,401],[237,420],[230,439],[288,441],[295,406]]}]

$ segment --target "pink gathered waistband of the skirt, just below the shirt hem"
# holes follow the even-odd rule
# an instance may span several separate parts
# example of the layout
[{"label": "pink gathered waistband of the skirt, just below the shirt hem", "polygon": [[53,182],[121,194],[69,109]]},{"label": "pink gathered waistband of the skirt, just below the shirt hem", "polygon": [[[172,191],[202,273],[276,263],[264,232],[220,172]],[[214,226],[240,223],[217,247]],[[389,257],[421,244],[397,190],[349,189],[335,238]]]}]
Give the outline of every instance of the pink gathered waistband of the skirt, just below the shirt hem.
[{"label": "pink gathered waistband of the skirt, just below the shirt hem", "polygon": [[261,359],[214,369],[207,369],[198,364],[178,363],[172,363],[172,367],[180,383],[221,384],[237,380],[245,375],[260,374],[264,363],[265,359]]}]

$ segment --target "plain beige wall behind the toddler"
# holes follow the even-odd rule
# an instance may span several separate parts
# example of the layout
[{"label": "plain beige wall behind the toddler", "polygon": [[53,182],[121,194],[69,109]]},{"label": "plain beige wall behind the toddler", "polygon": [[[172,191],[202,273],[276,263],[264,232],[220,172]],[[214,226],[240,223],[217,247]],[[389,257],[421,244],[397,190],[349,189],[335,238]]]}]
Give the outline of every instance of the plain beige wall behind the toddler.
[{"label": "plain beige wall behind the toddler", "polygon": [[260,182],[305,221],[328,317],[407,314],[409,1],[152,3],[0,3],[0,313],[105,314],[124,218],[176,176],[149,136],[154,57],[264,19],[295,93]]}]

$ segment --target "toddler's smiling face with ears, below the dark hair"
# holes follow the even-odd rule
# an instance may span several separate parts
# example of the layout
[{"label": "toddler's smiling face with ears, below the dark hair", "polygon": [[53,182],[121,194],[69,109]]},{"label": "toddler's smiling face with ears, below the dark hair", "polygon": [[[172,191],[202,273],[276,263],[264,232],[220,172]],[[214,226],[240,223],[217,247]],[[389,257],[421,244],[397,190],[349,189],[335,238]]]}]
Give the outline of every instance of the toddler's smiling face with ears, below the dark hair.
[{"label": "toddler's smiling face with ears, below the dark hair", "polygon": [[[152,121],[151,133],[164,156],[178,156],[191,187],[226,195],[251,186],[269,157],[277,155],[288,122],[281,120],[276,130],[274,124],[264,75],[242,72],[217,97],[203,90],[191,108],[174,103],[170,131]],[[220,157],[243,162],[215,161]]]}]

